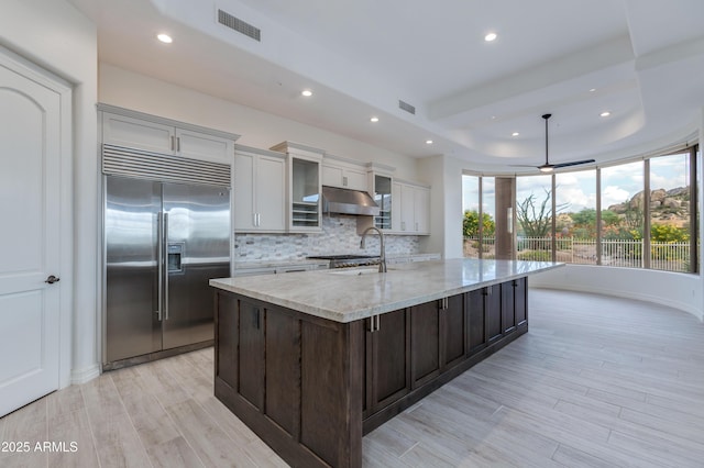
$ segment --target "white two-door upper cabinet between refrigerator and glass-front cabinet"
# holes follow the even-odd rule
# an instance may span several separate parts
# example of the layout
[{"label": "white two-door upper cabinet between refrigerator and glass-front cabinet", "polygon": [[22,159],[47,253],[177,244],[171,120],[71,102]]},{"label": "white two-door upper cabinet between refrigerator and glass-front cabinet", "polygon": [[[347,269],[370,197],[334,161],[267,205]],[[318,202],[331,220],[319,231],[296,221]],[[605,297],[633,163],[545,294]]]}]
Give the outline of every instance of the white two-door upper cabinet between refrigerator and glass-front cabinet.
[{"label": "white two-door upper cabinet between refrigerator and glass-front cabinet", "polygon": [[235,145],[234,231],[286,231],[286,157]]}]

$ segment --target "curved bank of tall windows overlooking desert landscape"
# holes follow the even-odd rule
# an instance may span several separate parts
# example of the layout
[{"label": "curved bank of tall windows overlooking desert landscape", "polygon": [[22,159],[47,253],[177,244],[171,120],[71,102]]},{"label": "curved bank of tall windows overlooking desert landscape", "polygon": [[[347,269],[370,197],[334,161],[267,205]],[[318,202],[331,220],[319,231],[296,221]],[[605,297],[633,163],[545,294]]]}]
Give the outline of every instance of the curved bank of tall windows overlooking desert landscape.
[{"label": "curved bank of tall windows overlooking desert landscape", "polygon": [[[696,272],[698,157],[695,147],[600,169],[516,177],[512,255]],[[495,207],[514,188],[496,180],[463,176],[465,257],[505,258],[494,252]]]}]

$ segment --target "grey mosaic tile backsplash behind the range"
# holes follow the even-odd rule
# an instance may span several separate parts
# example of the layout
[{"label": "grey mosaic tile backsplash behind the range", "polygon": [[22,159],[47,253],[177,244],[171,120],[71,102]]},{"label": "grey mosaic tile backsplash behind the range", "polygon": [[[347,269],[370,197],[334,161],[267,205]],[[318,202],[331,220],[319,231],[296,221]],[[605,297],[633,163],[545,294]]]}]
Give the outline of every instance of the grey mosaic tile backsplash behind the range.
[{"label": "grey mosaic tile backsplash behind the range", "polygon": [[[374,234],[374,233],[370,233]],[[418,236],[385,235],[386,255],[420,253]],[[296,260],[311,255],[378,255],[378,236],[369,235],[360,249],[356,216],[326,214],[321,234],[235,234],[234,260]]]}]

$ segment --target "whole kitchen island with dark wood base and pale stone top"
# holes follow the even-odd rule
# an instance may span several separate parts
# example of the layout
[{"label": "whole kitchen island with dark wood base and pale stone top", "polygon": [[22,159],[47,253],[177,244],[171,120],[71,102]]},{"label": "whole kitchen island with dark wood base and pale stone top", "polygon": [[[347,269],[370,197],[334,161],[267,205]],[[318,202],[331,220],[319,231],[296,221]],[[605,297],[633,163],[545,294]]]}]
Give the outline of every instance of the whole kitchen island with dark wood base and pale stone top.
[{"label": "whole kitchen island with dark wood base and pale stone top", "polygon": [[528,331],[527,277],[453,259],[210,280],[215,392],[292,466],[362,466],[362,436]]}]

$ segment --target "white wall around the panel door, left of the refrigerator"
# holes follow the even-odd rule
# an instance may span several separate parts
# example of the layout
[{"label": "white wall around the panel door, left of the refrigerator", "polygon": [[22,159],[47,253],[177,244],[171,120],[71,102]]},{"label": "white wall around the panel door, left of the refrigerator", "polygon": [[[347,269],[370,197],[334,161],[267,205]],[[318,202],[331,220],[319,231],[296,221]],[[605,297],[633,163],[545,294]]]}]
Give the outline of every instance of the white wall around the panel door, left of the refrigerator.
[{"label": "white wall around the panel door, left of the refrigerator", "polygon": [[[96,159],[97,33],[94,24],[64,0],[3,1],[0,14],[0,43],[55,75],[69,81],[73,89],[73,255],[62,272],[73,285],[74,339],[64,366],[61,385],[81,382],[99,372],[97,344],[96,256],[98,253],[98,190]],[[64,293],[65,290],[62,290]],[[69,328],[72,327],[69,326]],[[62,339],[72,336],[62,334]],[[66,359],[62,360],[64,365]]]}]

